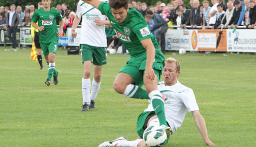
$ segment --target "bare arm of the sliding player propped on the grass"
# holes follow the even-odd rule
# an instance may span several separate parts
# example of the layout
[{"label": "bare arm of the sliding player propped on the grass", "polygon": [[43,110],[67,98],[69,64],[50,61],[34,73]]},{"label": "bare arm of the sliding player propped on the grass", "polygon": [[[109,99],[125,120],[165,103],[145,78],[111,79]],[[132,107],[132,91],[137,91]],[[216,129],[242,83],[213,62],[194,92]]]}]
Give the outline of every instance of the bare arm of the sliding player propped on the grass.
[{"label": "bare arm of the sliding player propped on the grass", "polygon": [[200,114],[199,110],[192,111],[192,115],[193,115],[195,124],[204,139],[205,144],[208,146],[215,146],[215,144],[212,143],[208,137],[205,120],[203,116]]}]

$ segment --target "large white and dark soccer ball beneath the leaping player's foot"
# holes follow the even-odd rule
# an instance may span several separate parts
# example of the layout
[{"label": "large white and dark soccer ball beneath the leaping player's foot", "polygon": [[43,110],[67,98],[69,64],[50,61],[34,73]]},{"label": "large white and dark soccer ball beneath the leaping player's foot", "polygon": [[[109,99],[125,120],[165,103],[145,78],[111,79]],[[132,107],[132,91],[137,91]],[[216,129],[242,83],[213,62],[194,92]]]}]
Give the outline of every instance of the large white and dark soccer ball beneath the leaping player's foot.
[{"label": "large white and dark soccer ball beneath the leaping player's foot", "polygon": [[160,126],[149,126],[143,133],[143,140],[148,147],[162,147],[166,143],[167,134]]}]

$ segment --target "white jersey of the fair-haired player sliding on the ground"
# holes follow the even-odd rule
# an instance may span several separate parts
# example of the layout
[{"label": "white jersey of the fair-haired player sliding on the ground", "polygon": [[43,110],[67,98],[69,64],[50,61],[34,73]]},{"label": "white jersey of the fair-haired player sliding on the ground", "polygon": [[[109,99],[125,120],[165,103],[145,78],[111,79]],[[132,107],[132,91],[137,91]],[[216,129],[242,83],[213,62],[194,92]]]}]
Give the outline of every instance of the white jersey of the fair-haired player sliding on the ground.
[{"label": "white jersey of the fair-haired player sliding on the ground", "polygon": [[[158,90],[167,98],[164,102],[165,117],[173,132],[181,126],[187,111],[199,110],[193,90],[179,81],[173,86],[165,86],[164,82],[159,82]],[[145,111],[154,111],[152,103]]]}]

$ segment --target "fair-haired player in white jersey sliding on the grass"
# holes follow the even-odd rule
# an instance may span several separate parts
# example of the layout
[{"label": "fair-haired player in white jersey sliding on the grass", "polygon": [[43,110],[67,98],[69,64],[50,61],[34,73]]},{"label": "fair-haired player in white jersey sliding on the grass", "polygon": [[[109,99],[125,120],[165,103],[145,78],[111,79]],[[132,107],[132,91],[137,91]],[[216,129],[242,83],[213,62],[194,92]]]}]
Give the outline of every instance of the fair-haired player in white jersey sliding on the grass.
[{"label": "fair-haired player in white jersey sliding on the grass", "polygon": [[[171,127],[172,133],[174,133],[181,126],[187,111],[189,111],[192,113],[194,122],[205,144],[215,146],[208,137],[205,120],[199,112],[193,90],[179,83],[179,74],[179,62],[171,57],[166,59],[163,67],[164,81],[158,83],[158,90],[167,98],[164,102],[167,124]],[[141,139],[143,132],[147,127],[156,125],[159,126],[159,120],[154,113],[152,103],[150,103],[144,112],[138,116],[138,137],[135,141],[128,141],[125,137],[120,137],[111,142],[104,142],[99,147],[147,147],[143,139]]]}]

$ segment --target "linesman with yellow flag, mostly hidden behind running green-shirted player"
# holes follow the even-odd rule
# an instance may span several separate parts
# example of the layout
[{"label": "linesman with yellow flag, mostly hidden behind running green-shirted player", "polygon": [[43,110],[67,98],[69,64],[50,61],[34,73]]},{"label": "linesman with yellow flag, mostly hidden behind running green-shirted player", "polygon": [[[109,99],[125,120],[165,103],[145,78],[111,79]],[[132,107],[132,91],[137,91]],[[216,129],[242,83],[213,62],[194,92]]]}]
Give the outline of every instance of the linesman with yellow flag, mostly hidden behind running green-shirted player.
[{"label": "linesman with yellow flag, mostly hidden behind running green-shirted player", "polygon": [[[38,2],[37,4],[37,8],[43,8],[43,3],[42,2]],[[38,22],[36,22],[36,24],[38,25]],[[39,34],[38,34],[38,30],[35,29],[32,24],[31,24],[31,39],[32,41],[35,43],[35,48],[36,48],[36,52],[37,52],[37,59],[38,59],[38,63],[40,65],[40,69],[43,70],[43,58],[42,58],[42,49],[39,43]],[[49,63],[47,63],[48,65]]]}]

